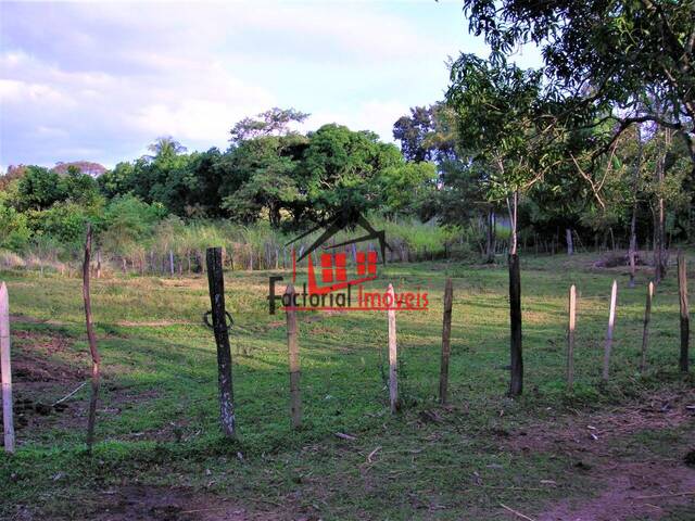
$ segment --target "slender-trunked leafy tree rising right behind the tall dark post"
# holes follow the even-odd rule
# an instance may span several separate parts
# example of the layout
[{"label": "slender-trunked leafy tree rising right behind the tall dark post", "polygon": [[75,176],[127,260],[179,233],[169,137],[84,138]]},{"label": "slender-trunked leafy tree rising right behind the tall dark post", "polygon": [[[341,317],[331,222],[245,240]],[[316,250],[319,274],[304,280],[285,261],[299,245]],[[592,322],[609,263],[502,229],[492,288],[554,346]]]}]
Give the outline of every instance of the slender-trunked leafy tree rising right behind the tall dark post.
[{"label": "slender-trunked leafy tree rising right behind the tall dark post", "polygon": [[458,140],[486,173],[488,198],[506,201],[517,254],[519,193],[538,182],[551,156],[536,115],[542,112],[541,74],[506,62],[462,54],[451,67],[446,92],[458,117]]}]

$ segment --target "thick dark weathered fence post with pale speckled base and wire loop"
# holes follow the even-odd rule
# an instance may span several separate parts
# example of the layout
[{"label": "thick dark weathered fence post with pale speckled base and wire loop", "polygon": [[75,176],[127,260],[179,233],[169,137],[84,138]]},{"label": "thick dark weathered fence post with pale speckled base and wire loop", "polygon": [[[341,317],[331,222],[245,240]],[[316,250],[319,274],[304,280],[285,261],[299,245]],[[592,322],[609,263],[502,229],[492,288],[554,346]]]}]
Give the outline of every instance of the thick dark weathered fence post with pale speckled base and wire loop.
[{"label": "thick dark weathered fence post with pale speckled base and wire loop", "polygon": [[225,309],[225,277],[222,269],[222,247],[207,249],[207,284],[212,306],[213,331],[217,344],[217,370],[219,385],[219,420],[228,437],[236,435],[235,405],[231,381],[231,348]]}]

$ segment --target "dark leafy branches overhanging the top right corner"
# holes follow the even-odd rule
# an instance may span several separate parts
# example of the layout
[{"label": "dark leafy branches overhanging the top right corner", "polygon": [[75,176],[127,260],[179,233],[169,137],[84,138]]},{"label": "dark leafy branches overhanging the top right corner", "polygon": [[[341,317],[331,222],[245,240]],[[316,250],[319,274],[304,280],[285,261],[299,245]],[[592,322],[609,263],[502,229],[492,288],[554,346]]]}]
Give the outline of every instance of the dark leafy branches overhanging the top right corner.
[{"label": "dark leafy branches overhanging the top right corner", "polygon": [[[675,131],[695,162],[692,0],[464,0],[464,11],[496,63],[519,46],[541,47],[566,123],[593,126],[597,115],[616,123],[594,156],[632,124],[652,120]],[[662,106],[645,105],[647,91],[658,93]]]}]

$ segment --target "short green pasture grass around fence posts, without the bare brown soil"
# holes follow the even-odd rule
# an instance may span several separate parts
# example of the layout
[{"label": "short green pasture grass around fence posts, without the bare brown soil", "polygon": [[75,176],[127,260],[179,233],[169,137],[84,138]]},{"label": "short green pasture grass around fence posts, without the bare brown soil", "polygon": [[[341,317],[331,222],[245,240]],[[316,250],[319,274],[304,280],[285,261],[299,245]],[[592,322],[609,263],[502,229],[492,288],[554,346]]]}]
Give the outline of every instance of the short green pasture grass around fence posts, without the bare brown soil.
[{"label": "short green pasture grass around fence posts, without the bare brown soil", "polygon": [[[216,354],[202,326],[206,280],[93,280],[92,307],[105,381],[92,458],[84,422],[54,421],[18,432],[13,457],[0,457],[0,516],[25,505],[53,517],[87,516],[91,487],[124,483],[204,488],[258,508],[292,504],[321,519],[500,519],[500,503],[538,512],[545,505],[601,486],[572,471],[568,456],[519,457],[504,433],[552,422],[568,411],[599,409],[659,389],[692,389],[678,373],[679,319],[674,269],[655,297],[646,374],[637,372],[648,272],[628,289],[624,270],[592,270],[577,255],[522,260],[525,395],[508,384],[508,298],[504,266],[455,263],[391,265],[375,289],[429,293],[427,313],[397,316],[404,411],[388,414],[381,359],[383,313],[303,314],[300,321],[304,424],[289,420],[285,317],[267,313],[267,277],[226,274],[239,440],[218,430]],[[289,274],[283,274],[289,278]],[[444,280],[454,280],[451,408],[437,405]],[[1,272],[24,353],[37,335],[60,334],[68,348],[55,364],[88,367],[80,281],[34,272]],[[619,280],[611,382],[599,385],[608,297]],[[579,294],[576,389],[565,391],[566,302]],[[85,386],[71,408],[85,406]],[[22,382],[16,385],[22,393]],[[45,403],[71,389],[47,386]],[[438,410],[441,421],[422,419]],[[356,436],[344,441],[342,432]],[[502,434],[501,434],[502,433]],[[668,443],[668,435],[662,443]],[[367,455],[379,448],[367,461]],[[58,476],[58,478],[56,478]],[[543,487],[554,480],[557,487]],[[212,482],[212,484],[211,484]],[[262,499],[264,498],[264,499]],[[80,501],[75,509],[74,499]],[[266,503],[263,503],[266,501]],[[269,503],[267,503],[269,501]]]}]

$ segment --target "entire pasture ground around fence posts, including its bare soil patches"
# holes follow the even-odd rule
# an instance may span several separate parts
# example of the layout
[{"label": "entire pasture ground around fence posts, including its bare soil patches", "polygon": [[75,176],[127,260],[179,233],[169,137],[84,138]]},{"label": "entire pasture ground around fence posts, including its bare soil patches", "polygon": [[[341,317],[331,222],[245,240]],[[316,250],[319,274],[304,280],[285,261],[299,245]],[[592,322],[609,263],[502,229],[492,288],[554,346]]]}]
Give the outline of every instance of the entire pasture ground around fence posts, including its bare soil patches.
[{"label": "entire pasture ground around fence posts, including its bare soil patches", "polygon": [[[505,396],[504,265],[391,265],[371,283],[429,293],[427,313],[397,314],[404,410],[396,416],[383,380],[386,314],[302,314],[299,431],[289,419],[285,317],[267,310],[268,276],[277,272],[227,272],[236,442],[218,429],[215,345],[201,320],[210,307],[204,276],[93,280],[105,377],[91,458],[84,444],[89,385],[64,410],[50,407],[89,374],[80,281],[0,272],[13,315],[15,398],[24,407],[17,453],[0,456],[0,517],[693,519],[695,470],[683,460],[695,448],[687,407],[695,387],[678,372],[675,269],[657,290],[648,370],[640,374],[650,272],[628,289],[624,268],[597,269],[593,260],[522,259],[519,399]],[[454,312],[444,408],[437,390],[446,277]],[[614,278],[611,380],[602,386]],[[568,394],[570,283],[579,312]]]}]

